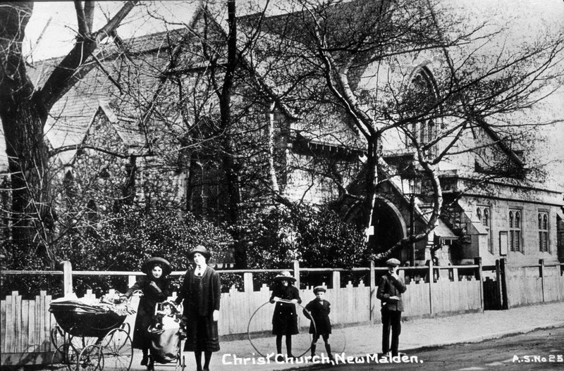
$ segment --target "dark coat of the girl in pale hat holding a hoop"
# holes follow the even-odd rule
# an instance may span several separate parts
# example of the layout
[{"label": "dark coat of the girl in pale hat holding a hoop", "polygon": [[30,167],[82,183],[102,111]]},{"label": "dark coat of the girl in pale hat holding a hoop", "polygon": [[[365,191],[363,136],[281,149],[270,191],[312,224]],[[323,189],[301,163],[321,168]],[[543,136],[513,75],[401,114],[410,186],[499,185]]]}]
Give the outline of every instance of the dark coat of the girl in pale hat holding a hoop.
[{"label": "dark coat of the girl in pale hat holding a hoop", "polygon": [[[300,292],[293,286],[284,286],[283,284],[276,284],[270,296],[270,302],[274,303],[274,296],[285,300],[298,300]],[[272,334],[274,335],[295,335],[298,334],[298,314],[295,313],[294,303],[281,303],[276,301],[274,306],[274,313],[272,315]]]}]

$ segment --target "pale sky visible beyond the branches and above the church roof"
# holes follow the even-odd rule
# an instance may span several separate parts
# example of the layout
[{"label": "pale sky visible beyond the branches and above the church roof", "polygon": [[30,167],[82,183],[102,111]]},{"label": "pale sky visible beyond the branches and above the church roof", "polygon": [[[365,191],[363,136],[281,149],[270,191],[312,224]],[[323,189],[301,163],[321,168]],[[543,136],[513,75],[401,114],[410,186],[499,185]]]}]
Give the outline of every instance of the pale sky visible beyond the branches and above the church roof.
[{"label": "pale sky visible beyond the branches and above the church roof", "polygon": [[[239,0],[238,14],[248,12],[249,4],[264,6],[266,0]],[[321,0],[319,0],[321,1]],[[432,1],[432,0],[430,0]],[[481,17],[503,15],[510,20],[510,36],[514,40],[527,37],[543,27],[564,28],[564,1],[562,0],[441,0],[444,4],[464,8],[462,13]],[[215,0],[217,4],[224,0]],[[285,5],[284,0],[271,0],[270,13],[279,13]],[[183,27],[199,2],[191,1],[140,1],[118,28],[123,39],[139,37],[143,34],[161,32],[171,28]],[[97,1],[94,30],[99,30],[108,17],[123,6],[123,1]],[[30,22],[25,30],[24,54],[30,63],[46,58],[63,56],[72,49],[76,34],[75,9],[72,1],[36,1]],[[166,19],[167,25],[163,22]],[[564,115],[564,87],[551,97],[546,106]],[[556,127],[548,137],[552,141],[543,147],[549,159],[564,159],[564,130]],[[0,147],[4,143],[0,144]],[[1,150],[2,148],[0,148]],[[554,170],[564,174],[560,163]],[[563,182],[564,185],[564,182]]]}]

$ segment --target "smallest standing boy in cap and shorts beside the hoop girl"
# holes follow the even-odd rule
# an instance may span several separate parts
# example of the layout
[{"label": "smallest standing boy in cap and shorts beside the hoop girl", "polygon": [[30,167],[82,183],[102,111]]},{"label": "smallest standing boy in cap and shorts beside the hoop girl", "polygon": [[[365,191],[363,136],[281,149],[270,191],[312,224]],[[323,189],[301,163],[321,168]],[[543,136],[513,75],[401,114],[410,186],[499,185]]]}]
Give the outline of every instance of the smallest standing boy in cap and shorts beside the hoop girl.
[{"label": "smallest standing boy in cap and shorts beside the hoop girl", "polygon": [[333,354],[331,353],[331,344],[329,344],[329,334],[331,334],[331,320],[329,320],[329,313],[331,313],[331,303],[324,299],[325,291],[325,287],[322,286],[317,286],[313,289],[315,298],[307,303],[307,306],[305,306],[304,315],[312,320],[312,323],[309,325],[309,334],[313,334],[312,357],[315,356],[317,340],[321,336],[323,337],[323,341],[325,343],[327,356],[330,360],[333,360]]}]

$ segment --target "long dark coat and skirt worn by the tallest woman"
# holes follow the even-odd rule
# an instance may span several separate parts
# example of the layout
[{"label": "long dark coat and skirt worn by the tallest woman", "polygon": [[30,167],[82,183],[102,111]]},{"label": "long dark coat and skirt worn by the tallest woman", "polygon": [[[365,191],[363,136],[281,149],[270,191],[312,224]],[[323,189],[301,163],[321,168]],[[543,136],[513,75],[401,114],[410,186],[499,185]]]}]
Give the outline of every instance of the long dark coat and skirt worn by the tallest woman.
[{"label": "long dark coat and skirt worn by the tallest woman", "polygon": [[221,282],[219,274],[207,267],[202,277],[195,270],[186,272],[176,303],[184,300],[186,341],[184,351],[219,351],[219,334],[214,310],[219,310]]}]

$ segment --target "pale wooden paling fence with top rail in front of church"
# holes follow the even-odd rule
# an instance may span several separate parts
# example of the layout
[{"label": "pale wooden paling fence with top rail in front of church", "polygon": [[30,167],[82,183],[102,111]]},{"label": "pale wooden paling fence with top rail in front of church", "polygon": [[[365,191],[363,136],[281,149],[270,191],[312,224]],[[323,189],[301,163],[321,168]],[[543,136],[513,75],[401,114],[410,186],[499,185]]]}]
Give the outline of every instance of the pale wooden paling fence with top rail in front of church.
[{"label": "pale wooden paling fence with top rail in front of church", "polygon": [[[507,267],[505,260],[495,266],[482,266],[477,258],[474,265],[401,267],[399,275],[405,279],[407,292],[403,296],[405,317],[441,315],[445,313],[464,313],[481,311],[489,301],[499,303],[499,308],[520,306],[545,301],[564,300],[563,264],[539,265],[527,267]],[[243,287],[234,286],[221,294],[219,333],[244,334],[247,332],[251,315],[263,306],[270,297],[270,289],[265,282],[255,283],[257,274],[276,273],[281,270],[218,270],[219,275],[242,275]],[[332,268],[301,268],[295,262],[290,269],[296,277],[296,287],[300,288],[302,301],[314,298],[312,287],[307,285],[308,275],[321,274],[329,277],[324,282],[329,289],[326,299],[331,302],[331,319],[340,325],[371,322],[379,320],[380,303],[376,300],[379,277],[386,268],[376,268],[371,262],[369,267],[353,270]],[[350,273],[364,274],[355,284],[341,284],[341,279]],[[63,293],[73,291],[73,277],[76,276],[125,276],[129,286],[142,272],[94,272],[73,271],[71,263],[64,262],[61,270],[56,271],[3,271],[1,275],[60,275]],[[173,277],[185,272],[172,272]],[[303,281],[300,284],[300,276]],[[264,275],[259,275],[264,277]],[[88,291],[85,296],[92,296]],[[171,298],[176,298],[173,293]],[[484,302],[485,301],[485,302]],[[49,313],[51,296],[41,291],[35,300],[23,300],[18,291],[13,291],[0,303],[0,341],[2,365],[33,365],[48,363],[51,348],[49,332],[56,324]],[[137,306],[138,298],[133,298]],[[304,303],[304,305],[305,305]],[[268,305],[260,315],[253,318],[250,325],[252,332],[266,332],[271,329],[271,311]],[[300,310],[301,311],[301,310]],[[245,320],[241,320],[245,318]],[[132,325],[135,315],[128,317]],[[308,325],[301,323],[300,325]]]}]

